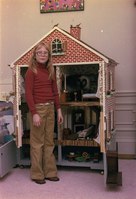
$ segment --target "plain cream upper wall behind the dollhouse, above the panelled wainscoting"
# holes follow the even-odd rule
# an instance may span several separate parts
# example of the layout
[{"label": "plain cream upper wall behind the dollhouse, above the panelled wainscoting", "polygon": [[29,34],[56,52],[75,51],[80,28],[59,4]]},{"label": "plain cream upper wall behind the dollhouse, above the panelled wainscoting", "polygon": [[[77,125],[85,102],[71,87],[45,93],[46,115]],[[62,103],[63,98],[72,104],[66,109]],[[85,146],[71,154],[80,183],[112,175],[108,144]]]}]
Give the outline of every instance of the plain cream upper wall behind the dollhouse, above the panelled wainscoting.
[{"label": "plain cream upper wall behind the dollhouse, above the panelled wainscoting", "polygon": [[[40,14],[39,1],[0,0],[1,92],[12,90],[12,75],[8,64],[48,33],[55,24],[59,23],[60,28],[69,31],[71,24],[81,23],[81,39],[119,63],[116,68],[118,93],[127,92],[129,95],[133,92],[135,95],[136,7],[134,0],[85,0],[84,11],[50,14]],[[135,103],[133,105],[132,109],[135,109]],[[134,125],[136,129],[136,124]],[[133,137],[136,140],[135,132]]]}]

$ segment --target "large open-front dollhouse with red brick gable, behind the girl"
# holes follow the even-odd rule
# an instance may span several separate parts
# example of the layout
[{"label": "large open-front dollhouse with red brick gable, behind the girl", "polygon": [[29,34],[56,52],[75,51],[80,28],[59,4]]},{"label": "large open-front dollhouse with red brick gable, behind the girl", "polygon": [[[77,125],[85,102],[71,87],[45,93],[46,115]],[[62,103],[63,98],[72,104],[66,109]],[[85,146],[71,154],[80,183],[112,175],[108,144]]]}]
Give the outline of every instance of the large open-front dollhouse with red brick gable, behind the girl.
[{"label": "large open-front dollhouse with red brick gable, behind the girl", "polygon": [[[51,47],[64,115],[63,125],[54,128],[57,164],[104,170],[107,184],[119,184],[118,166],[109,172],[107,164],[110,157],[118,164],[114,120],[117,63],[84,43],[80,35],[80,25],[71,26],[70,33],[54,26],[11,64],[18,164],[30,164],[25,73],[33,48],[45,42]],[[114,155],[107,155],[111,150]]]}]

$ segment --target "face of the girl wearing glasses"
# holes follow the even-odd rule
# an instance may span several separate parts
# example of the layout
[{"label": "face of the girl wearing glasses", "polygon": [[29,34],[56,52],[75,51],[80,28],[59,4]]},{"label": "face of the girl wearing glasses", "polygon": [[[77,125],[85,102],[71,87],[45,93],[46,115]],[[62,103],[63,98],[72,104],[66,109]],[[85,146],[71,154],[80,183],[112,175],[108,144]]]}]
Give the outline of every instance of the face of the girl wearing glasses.
[{"label": "face of the girl wearing glasses", "polygon": [[37,48],[35,53],[38,63],[45,64],[48,61],[49,52],[44,46]]}]

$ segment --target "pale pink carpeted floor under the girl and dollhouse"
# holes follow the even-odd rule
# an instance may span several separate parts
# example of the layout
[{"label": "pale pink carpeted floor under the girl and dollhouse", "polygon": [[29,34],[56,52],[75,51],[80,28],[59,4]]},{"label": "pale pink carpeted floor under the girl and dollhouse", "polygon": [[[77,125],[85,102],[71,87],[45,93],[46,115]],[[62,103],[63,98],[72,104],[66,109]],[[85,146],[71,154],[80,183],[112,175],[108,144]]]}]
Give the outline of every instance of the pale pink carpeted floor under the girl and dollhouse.
[{"label": "pale pink carpeted floor under the girl and dollhouse", "polygon": [[0,179],[0,199],[134,199],[136,160],[119,160],[121,187],[106,187],[104,176],[88,168],[58,168],[59,182],[39,185],[29,178],[29,168],[14,168]]}]

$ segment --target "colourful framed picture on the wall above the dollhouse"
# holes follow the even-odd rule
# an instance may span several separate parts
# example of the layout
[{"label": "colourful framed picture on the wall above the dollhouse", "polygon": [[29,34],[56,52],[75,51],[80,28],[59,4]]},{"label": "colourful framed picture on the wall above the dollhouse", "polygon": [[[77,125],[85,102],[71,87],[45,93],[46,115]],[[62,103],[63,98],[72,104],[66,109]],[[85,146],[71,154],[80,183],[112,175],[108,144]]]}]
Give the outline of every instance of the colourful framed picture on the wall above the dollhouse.
[{"label": "colourful framed picture on the wall above the dollhouse", "polygon": [[40,13],[83,10],[84,0],[40,0]]}]

